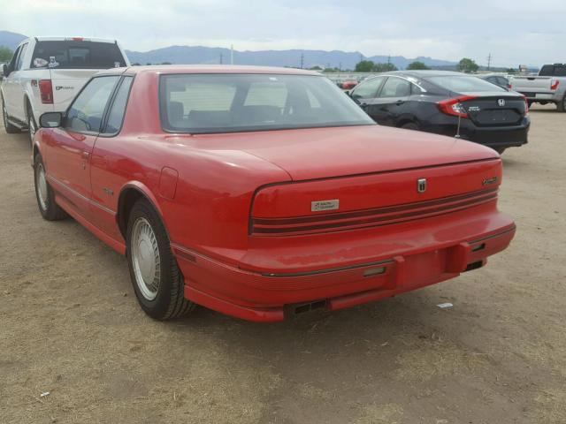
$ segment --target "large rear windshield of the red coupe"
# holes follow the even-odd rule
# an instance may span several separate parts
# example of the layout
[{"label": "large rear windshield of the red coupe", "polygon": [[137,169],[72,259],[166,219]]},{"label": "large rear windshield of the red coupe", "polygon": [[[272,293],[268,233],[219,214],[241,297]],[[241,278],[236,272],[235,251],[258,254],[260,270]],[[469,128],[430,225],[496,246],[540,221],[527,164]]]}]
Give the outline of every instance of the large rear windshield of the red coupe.
[{"label": "large rear windshield of the red coupe", "polygon": [[161,119],[174,133],[374,125],[329,79],[309,75],[163,75]]}]

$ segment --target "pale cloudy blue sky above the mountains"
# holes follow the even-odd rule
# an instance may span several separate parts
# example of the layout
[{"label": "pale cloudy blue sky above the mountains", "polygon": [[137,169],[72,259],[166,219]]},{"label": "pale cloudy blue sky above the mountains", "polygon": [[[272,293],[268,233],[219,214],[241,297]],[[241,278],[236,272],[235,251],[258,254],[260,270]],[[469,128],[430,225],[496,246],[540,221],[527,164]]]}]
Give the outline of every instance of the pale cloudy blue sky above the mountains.
[{"label": "pale cloudy blue sky above the mountains", "polygon": [[[4,3],[4,2],[3,2]],[[566,0],[18,0],[0,29],[117,38],[126,49],[341,49],[365,56],[566,62]]]}]

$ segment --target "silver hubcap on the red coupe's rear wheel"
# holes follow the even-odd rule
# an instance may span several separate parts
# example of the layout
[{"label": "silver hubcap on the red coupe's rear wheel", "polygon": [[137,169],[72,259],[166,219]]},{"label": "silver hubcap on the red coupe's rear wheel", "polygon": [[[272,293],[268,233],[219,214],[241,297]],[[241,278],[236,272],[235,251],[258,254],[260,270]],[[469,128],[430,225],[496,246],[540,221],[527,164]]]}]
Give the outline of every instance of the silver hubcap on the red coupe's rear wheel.
[{"label": "silver hubcap on the red coupe's rear wheel", "polygon": [[131,245],[135,283],[145,299],[156,299],[161,279],[161,257],[156,235],[147,219],[135,221]]}]

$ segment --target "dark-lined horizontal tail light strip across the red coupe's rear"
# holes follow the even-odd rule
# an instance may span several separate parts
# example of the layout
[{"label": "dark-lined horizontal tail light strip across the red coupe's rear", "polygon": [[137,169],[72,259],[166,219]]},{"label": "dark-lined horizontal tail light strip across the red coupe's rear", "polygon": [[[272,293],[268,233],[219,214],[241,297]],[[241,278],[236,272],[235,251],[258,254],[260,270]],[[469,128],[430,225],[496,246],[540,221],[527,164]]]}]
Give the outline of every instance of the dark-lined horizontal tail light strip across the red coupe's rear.
[{"label": "dark-lined horizontal tail light strip across the red coupe's rear", "polygon": [[325,231],[343,231],[357,228],[402,223],[428,216],[472,208],[497,199],[497,189],[449,196],[433,201],[419,201],[385,208],[372,208],[341,214],[299,216],[294,218],[251,219],[253,236],[289,236]]}]

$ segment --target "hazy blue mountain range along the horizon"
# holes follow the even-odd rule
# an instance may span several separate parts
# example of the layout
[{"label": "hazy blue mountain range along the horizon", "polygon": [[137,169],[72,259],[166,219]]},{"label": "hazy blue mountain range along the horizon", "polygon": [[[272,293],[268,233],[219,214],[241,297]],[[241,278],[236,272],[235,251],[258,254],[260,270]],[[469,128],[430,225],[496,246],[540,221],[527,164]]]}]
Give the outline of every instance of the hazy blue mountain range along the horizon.
[{"label": "hazy blue mountain range along the horizon", "polygon": [[[26,35],[0,31],[0,46],[15,49],[19,42],[27,38]],[[219,47],[202,46],[170,46],[149,51],[126,50],[126,55],[133,64],[229,64],[231,50]],[[402,56],[372,56],[363,57],[359,51],[341,50],[260,50],[239,51],[233,50],[234,64],[254,64],[264,66],[292,66],[310,68],[312,66],[336,67],[340,69],[354,69],[360,59],[371,60],[375,63],[391,62],[399,69],[404,69],[415,60],[428,66],[450,67],[455,62],[433,59],[432,57],[406,58]]]}]

